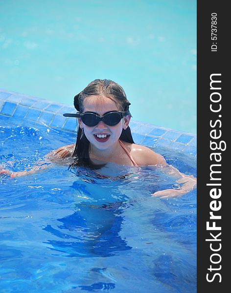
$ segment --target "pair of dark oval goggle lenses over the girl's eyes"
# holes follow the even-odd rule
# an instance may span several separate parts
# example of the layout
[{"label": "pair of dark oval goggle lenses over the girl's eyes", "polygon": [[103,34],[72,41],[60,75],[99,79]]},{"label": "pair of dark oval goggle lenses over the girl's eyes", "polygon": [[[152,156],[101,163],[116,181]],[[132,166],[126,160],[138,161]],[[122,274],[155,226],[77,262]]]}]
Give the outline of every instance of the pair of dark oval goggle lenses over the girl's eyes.
[{"label": "pair of dark oval goggle lenses over the girl's eyes", "polygon": [[118,112],[108,113],[103,117],[99,117],[93,113],[85,113],[82,116],[82,121],[87,126],[96,126],[101,120],[109,126],[114,126],[119,123],[122,119],[121,115]]}]

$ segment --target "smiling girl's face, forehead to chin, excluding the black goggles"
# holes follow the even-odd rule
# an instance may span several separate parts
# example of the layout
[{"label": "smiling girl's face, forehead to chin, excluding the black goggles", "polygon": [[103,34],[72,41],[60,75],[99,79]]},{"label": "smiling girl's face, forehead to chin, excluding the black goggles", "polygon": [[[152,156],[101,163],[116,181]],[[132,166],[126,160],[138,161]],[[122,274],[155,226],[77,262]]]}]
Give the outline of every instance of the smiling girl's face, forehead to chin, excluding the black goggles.
[{"label": "smiling girl's face, forehead to chin, excluding the black goggles", "polygon": [[[109,98],[101,96],[89,96],[84,100],[84,111],[94,112],[99,116],[103,116],[109,111],[120,111],[115,102]],[[98,150],[109,149],[118,142],[123,128],[127,128],[130,116],[123,117],[115,126],[108,126],[103,121],[100,121],[96,126],[85,125],[78,118],[79,126],[84,129],[84,133],[92,146]]]}]

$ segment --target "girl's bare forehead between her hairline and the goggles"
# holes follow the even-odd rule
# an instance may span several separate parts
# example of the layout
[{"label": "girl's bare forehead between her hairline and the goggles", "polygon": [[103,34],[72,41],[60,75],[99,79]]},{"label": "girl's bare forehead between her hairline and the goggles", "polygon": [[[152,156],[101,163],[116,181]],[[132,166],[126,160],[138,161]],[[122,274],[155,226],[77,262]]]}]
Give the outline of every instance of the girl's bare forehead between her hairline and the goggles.
[{"label": "girl's bare forehead between her hairline and the goggles", "polygon": [[84,112],[96,112],[100,115],[109,111],[118,111],[118,106],[110,98],[104,96],[89,96],[84,100]]}]

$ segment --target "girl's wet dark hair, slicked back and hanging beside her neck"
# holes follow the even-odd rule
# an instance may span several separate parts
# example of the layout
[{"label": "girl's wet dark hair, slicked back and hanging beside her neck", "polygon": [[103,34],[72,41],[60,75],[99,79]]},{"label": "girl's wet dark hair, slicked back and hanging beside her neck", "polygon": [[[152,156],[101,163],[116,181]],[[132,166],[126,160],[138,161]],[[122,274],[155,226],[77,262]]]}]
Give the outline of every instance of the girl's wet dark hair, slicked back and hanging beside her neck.
[{"label": "girl's wet dark hair, slicked back and hanging beside her neck", "polygon": [[[127,100],[126,94],[123,88],[111,80],[100,80],[96,79],[88,84],[84,90],[74,97],[74,107],[75,109],[82,113],[84,111],[84,100],[89,96],[103,96],[113,100],[118,106],[120,111],[129,110],[129,101]],[[126,129],[122,130],[119,137],[121,141],[134,143],[131,129],[128,126]],[[89,157],[90,142],[84,134],[84,129],[78,127],[77,141],[72,157],[75,159],[74,166],[86,166],[91,169],[99,169],[106,164],[94,164]]]}]

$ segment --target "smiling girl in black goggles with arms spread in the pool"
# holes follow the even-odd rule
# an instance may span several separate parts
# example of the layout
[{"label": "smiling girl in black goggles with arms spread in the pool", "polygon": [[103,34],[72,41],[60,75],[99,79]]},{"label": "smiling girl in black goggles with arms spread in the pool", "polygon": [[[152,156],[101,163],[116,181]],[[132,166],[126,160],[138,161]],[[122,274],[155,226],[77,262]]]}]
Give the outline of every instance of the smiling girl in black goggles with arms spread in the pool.
[{"label": "smiling girl in black goggles with arms spread in the pool", "polygon": [[[175,167],[168,166],[162,155],[134,143],[129,127],[129,105],[131,104],[120,85],[111,80],[94,80],[74,97],[77,114],[64,114],[66,117],[78,118],[76,144],[62,146],[46,157],[54,161],[72,157],[72,166],[82,165],[97,172],[110,163],[125,166],[158,166],[164,167],[167,174],[179,178],[171,189],[157,191],[152,194],[154,196],[179,196],[194,189],[196,179],[193,176],[185,175]],[[0,173],[16,177],[45,167],[46,165],[37,166],[23,172],[2,169]]]}]

